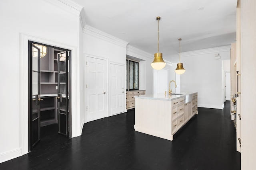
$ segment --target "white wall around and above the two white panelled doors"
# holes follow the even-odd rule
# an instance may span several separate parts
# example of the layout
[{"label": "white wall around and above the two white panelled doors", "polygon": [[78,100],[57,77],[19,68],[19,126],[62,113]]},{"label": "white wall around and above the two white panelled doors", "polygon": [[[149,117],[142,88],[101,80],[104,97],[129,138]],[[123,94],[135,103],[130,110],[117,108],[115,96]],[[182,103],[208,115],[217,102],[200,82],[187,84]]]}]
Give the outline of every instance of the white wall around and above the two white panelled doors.
[{"label": "white wall around and above the two white panelled doors", "polygon": [[[100,30],[97,30],[93,27],[86,25],[84,28],[83,34],[83,48],[84,48],[84,61],[86,62],[87,57],[95,57],[100,59],[106,59],[107,65],[110,63],[124,65],[124,70],[126,68],[126,45],[128,44],[125,41],[117,39],[111,35],[108,35]],[[85,64],[83,64],[85,65]],[[86,68],[84,68],[85,70]],[[108,69],[107,69],[108,70]],[[107,75],[109,73],[107,72]],[[126,73],[124,72],[124,80]],[[84,80],[87,81],[86,76],[84,75]],[[108,77],[107,84],[110,83],[110,77]],[[84,84],[86,85],[86,84]],[[125,85],[125,83],[124,83]],[[124,87],[125,89],[126,87]],[[84,98],[87,94],[86,86],[84,86],[85,93]],[[108,87],[107,94],[110,94],[110,87]],[[110,115],[110,96],[107,97],[107,115]],[[84,100],[84,107],[88,107],[87,101]],[[126,104],[124,103],[124,106]],[[124,109],[124,112],[126,108]],[[84,109],[84,123],[87,122],[86,119],[86,109]]]}]

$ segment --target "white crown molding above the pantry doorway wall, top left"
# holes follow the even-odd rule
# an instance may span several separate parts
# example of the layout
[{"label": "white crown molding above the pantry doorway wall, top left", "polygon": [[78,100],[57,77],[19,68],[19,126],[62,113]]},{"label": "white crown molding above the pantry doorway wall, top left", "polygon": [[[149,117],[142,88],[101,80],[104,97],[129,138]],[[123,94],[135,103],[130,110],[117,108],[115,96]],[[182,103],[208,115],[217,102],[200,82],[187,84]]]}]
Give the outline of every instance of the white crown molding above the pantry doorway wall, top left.
[{"label": "white crown molding above the pantry doorway wall, top left", "polygon": [[72,0],[46,0],[46,1],[64,10],[67,10],[68,12],[71,12],[77,16],[80,16],[80,12],[83,8],[83,6],[81,6],[80,4],[77,4]]}]

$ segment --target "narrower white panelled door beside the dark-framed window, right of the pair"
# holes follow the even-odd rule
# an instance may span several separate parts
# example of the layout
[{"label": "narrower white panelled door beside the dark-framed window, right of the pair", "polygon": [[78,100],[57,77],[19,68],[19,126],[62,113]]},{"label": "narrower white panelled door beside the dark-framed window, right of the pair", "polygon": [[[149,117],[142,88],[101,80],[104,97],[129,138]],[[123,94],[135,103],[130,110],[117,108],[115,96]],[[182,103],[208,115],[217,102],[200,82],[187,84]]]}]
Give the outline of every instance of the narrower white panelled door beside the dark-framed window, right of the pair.
[{"label": "narrower white panelled door beside the dark-framed window, right of the pair", "polygon": [[110,115],[124,112],[124,66],[110,64]]}]

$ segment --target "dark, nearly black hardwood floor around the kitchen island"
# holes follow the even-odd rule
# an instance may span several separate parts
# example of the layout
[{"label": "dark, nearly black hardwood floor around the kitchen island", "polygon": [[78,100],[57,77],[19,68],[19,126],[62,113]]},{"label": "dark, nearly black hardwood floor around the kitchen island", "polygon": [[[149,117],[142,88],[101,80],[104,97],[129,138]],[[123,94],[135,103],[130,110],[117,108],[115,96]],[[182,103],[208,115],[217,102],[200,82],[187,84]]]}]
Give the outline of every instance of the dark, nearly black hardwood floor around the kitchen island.
[{"label": "dark, nearly black hardwood floor around the kitchen island", "polygon": [[68,139],[57,125],[42,127],[32,152],[0,164],[0,170],[240,170],[230,102],[199,114],[174,141],[134,131],[134,109],[84,124]]}]

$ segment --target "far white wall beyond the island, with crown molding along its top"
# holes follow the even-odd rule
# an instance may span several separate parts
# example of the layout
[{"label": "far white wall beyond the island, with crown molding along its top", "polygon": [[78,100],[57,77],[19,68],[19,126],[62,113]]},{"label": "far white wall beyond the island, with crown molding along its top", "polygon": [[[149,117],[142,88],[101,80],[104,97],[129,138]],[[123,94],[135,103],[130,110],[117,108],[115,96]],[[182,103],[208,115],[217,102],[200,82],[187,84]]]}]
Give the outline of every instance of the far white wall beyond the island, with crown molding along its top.
[{"label": "far white wall beyond the island, with crown molding along its top", "polygon": [[[215,53],[221,58],[215,59]],[[198,107],[222,109],[222,60],[230,59],[230,46],[185,52],[181,57],[186,72],[180,75],[180,91],[198,92]]]}]

